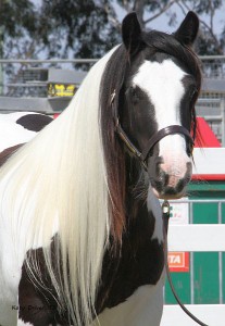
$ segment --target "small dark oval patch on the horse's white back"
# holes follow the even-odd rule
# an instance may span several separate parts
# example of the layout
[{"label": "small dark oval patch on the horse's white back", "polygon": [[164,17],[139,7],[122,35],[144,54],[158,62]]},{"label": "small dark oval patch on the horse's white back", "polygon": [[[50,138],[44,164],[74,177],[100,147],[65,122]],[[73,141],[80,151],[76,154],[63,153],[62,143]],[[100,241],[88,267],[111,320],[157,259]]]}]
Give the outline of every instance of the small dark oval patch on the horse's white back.
[{"label": "small dark oval patch on the horse's white back", "polygon": [[45,126],[52,122],[52,117],[43,114],[26,114],[16,121],[16,124],[21,125],[30,131],[40,131]]}]

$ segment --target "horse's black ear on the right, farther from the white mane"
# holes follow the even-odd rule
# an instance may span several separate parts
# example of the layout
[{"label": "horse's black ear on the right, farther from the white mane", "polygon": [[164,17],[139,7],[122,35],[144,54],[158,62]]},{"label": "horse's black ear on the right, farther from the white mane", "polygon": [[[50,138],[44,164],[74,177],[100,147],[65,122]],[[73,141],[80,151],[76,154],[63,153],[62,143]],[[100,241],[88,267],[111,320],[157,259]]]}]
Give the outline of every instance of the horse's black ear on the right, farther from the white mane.
[{"label": "horse's black ear on the right, farther from the white mane", "polygon": [[189,11],[179,28],[174,33],[175,38],[185,46],[192,46],[199,30],[199,18]]}]

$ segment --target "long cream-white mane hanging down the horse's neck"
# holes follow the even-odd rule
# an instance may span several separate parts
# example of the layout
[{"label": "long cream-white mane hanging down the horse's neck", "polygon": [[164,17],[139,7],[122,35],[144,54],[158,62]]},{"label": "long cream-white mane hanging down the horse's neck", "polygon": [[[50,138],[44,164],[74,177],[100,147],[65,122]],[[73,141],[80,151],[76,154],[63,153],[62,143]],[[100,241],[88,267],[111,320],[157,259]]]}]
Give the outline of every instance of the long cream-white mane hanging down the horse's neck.
[{"label": "long cream-white mane hanging down the horse's neck", "polygon": [[[67,109],[0,171],[0,211],[11,220],[15,248],[23,248],[25,259],[28,249],[43,247],[60,303],[74,325],[90,324],[110,231],[99,88],[113,51],[90,70]],[[49,251],[55,233],[63,290]]]}]

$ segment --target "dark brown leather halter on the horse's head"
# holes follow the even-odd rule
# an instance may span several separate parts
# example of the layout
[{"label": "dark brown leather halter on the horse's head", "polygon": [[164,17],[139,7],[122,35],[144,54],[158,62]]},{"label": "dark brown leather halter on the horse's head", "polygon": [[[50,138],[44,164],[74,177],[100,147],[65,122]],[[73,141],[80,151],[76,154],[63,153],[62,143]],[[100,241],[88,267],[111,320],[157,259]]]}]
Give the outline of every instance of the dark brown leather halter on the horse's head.
[{"label": "dark brown leather halter on the horse's head", "polygon": [[118,137],[122,139],[122,141],[126,145],[129,152],[132,152],[140,161],[140,163],[142,164],[142,166],[146,171],[148,170],[147,160],[148,160],[153,147],[162,138],[164,138],[168,135],[174,135],[174,134],[184,135],[186,137],[186,139],[188,140],[190,154],[192,153],[195,140],[191,137],[188,129],[186,129],[185,127],[183,127],[180,125],[171,125],[171,126],[160,129],[148,140],[147,146],[142,151],[137,149],[137,147],[132,142],[132,140],[129,139],[129,137],[127,136],[127,134],[125,133],[125,130],[123,129],[123,127],[121,125],[117,103],[115,102],[115,97],[116,97],[116,92],[114,90],[113,93],[111,95],[111,106],[112,106],[113,115],[114,115],[115,133],[118,135]]}]

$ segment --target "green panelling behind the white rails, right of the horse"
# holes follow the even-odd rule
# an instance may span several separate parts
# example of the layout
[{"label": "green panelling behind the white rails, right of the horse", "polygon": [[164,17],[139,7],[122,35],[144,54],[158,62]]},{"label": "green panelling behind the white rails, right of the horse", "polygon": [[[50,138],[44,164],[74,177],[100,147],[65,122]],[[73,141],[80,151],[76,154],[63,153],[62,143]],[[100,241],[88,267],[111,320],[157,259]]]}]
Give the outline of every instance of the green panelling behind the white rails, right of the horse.
[{"label": "green panelling behind the white rails, right of the horse", "polygon": [[[188,189],[191,200],[224,200],[225,181],[191,183]],[[221,210],[222,223],[225,223],[225,203]],[[218,203],[193,203],[193,224],[217,224]],[[225,303],[225,253],[222,253],[222,301]],[[220,303],[220,255],[217,252],[195,252],[190,266],[193,272],[193,302],[191,302],[190,272],[172,273],[173,284],[177,294],[184,303],[213,304]],[[165,284],[165,303],[175,304],[176,301]]]}]

